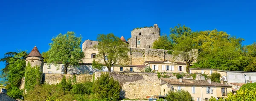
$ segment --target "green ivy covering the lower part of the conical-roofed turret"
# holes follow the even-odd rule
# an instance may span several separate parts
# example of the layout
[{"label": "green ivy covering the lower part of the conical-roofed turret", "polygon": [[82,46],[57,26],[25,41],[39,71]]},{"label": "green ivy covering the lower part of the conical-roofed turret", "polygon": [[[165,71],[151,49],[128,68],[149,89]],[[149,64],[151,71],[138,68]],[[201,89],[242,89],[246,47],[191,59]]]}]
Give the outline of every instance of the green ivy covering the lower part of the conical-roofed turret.
[{"label": "green ivy covering the lower part of the conical-roofed turret", "polygon": [[41,76],[42,72],[40,72],[40,66],[31,67],[29,62],[25,72],[25,89],[29,91],[32,90],[35,85],[41,84]]}]

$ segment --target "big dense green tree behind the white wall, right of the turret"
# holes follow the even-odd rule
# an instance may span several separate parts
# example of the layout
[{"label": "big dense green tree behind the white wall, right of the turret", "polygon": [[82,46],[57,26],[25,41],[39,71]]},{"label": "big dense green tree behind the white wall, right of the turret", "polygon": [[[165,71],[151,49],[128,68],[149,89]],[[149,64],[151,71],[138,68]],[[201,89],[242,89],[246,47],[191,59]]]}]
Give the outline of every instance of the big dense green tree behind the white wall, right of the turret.
[{"label": "big dense green tree behind the white wall, right of the turret", "polygon": [[64,73],[67,73],[69,65],[79,65],[84,58],[84,53],[81,50],[81,35],[76,36],[75,32],[68,31],[67,34],[58,34],[52,38],[50,49],[48,51],[49,63],[64,64]]}]

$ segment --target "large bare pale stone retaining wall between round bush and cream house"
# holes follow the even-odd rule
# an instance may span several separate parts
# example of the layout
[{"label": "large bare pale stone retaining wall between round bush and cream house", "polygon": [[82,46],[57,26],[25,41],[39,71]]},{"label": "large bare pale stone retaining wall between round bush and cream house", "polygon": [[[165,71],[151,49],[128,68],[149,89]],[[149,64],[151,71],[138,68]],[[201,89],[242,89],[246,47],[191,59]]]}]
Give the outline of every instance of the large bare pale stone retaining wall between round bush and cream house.
[{"label": "large bare pale stone retaining wall between round bush and cream house", "polygon": [[[166,75],[170,76],[170,79],[176,79],[172,73],[166,73]],[[188,75],[186,74],[183,79],[193,79]],[[95,73],[95,79],[100,76],[101,72]],[[110,76],[119,81],[122,87],[120,93],[122,98],[144,99],[147,96],[160,95],[160,79],[157,73],[111,72]]]}]

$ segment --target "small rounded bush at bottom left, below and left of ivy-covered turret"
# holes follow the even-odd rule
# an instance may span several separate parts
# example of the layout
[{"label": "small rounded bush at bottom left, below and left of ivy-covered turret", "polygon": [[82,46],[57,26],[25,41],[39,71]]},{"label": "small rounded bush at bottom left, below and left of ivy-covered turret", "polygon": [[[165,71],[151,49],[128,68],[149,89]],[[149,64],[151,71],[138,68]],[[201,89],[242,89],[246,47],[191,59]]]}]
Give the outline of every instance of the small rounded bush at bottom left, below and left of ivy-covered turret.
[{"label": "small rounded bush at bottom left, below and left of ivy-covered turret", "polygon": [[11,87],[10,89],[8,89],[7,95],[15,99],[20,99],[23,95],[23,91],[20,90],[18,87]]}]

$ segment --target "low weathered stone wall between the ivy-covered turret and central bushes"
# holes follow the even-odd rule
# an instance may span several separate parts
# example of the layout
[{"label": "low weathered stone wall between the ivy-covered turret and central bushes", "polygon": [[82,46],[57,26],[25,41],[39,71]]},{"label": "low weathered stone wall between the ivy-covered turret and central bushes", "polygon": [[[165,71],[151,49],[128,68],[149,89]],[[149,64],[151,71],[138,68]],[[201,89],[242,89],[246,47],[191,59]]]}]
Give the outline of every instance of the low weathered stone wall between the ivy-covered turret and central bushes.
[{"label": "low weathered stone wall between the ivy-covered turret and central bushes", "polygon": [[[43,74],[43,82],[44,84],[58,84],[61,82],[62,77],[64,74]],[[65,74],[66,79],[72,79],[73,76],[71,74]],[[76,75],[77,82],[85,82],[85,81],[92,81],[93,75],[89,74],[81,74]]]}]

